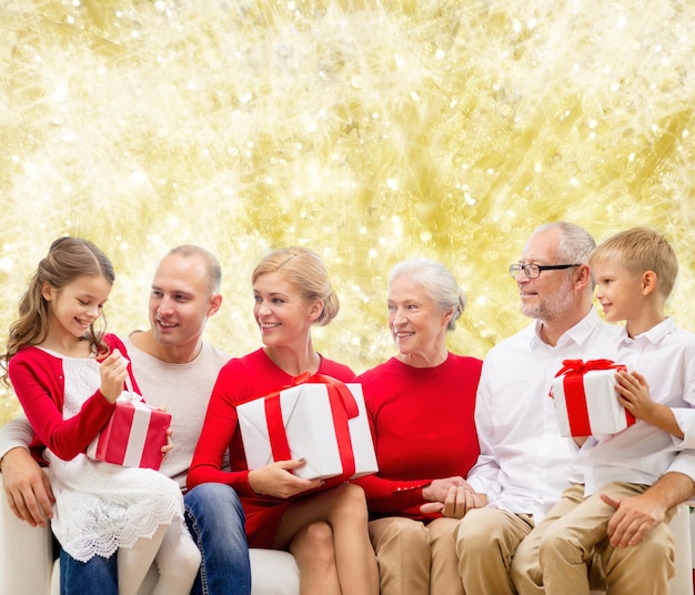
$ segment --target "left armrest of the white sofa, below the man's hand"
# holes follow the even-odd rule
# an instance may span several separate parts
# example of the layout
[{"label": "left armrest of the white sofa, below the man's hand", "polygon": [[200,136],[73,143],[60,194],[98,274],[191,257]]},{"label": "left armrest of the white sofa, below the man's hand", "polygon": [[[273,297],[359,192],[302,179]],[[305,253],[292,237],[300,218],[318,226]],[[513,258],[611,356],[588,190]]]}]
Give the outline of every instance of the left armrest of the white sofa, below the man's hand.
[{"label": "left armrest of the white sofa, below the man's hand", "polygon": [[53,568],[51,530],[32,527],[14,516],[0,473],[0,593],[49,593]]}]

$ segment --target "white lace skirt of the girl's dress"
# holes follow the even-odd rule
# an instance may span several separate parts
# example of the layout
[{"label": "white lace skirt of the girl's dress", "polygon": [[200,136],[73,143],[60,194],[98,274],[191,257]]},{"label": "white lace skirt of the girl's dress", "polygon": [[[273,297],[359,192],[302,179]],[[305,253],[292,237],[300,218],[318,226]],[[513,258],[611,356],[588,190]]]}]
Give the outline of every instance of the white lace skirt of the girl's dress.
[{"label": "white lace skirt of the girl's dress", "polygon": [[51,527],[74,559],[110,557],[177,518],[187,531],[179,484],[162,473],[84,455],[62,461],[47,451],[46,456],[56,496]]}]

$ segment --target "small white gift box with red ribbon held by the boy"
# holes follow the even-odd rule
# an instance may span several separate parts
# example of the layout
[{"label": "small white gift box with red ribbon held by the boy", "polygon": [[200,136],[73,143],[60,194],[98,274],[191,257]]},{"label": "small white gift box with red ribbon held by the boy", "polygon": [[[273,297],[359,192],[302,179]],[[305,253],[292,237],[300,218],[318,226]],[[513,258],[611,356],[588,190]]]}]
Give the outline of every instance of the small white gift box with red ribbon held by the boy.
[{"label": "small white gift box with red ribbon held by the boy", "polygon": [[618,370],[627,367],[611,360],[563,362],[551,389],[563,436],[616,434],[635,423],[617,400]]}]

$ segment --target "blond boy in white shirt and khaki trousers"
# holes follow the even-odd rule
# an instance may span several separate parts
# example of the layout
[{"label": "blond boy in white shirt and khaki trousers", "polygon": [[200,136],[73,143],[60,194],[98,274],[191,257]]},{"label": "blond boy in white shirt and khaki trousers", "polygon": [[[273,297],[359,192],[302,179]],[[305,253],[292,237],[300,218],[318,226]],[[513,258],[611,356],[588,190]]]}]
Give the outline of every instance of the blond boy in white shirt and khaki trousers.
[{"label": "blond boy in white shirt and khaki trousers", "polygon": [[[613,532],[665,474],[695,478],[695,335],[664,314],[678,270],[658,233],[635,228],[600,244],[590,265],[596,299],[608,322],[625,321],[613,357],[639,372],[618,372],[618,402],[636,423],[614,435],[588,436],[571,466],[572,486],[534,530],[537,567],[513,573],[520,595],[588,594],[588,566],[602,557],[612,595],[668,592],[674,573],[673,510],[654,501],[654,513],[635,515],[625,539]],[[605,354],[596,354],[596,357]],[[661,507],[659,507],[661,506]],[[617,512],[616,512],[617,508]],[[625,547],[631,546],[631,547]]]}]

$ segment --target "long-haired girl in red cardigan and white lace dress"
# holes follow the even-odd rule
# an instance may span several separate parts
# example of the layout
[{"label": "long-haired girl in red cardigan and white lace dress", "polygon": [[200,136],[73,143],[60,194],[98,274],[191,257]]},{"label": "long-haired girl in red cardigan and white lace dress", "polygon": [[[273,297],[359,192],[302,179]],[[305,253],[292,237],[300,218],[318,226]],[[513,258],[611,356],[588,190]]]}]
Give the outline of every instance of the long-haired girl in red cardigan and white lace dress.
[{"label": "long-haired girl in red cardigan and white lace dress", "polygon": [[[200,554],[183,524],[178,484],[153,470],[83,453],[109,421],[130,375],[123,343],[98,332],[113,266],[91,242],[56,240],[39,263],[10,327],[3,360],[49,463],[51,527],[64,552],[88,562],[118,551],[120,595],[135,595],[155,559],[155,594],[188,595]],[[135,386],[133,382],[133,386]]]}]

